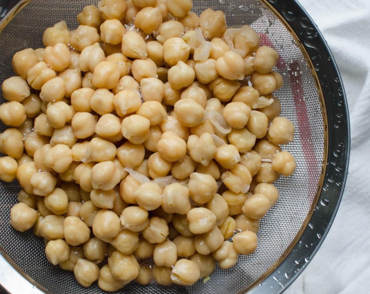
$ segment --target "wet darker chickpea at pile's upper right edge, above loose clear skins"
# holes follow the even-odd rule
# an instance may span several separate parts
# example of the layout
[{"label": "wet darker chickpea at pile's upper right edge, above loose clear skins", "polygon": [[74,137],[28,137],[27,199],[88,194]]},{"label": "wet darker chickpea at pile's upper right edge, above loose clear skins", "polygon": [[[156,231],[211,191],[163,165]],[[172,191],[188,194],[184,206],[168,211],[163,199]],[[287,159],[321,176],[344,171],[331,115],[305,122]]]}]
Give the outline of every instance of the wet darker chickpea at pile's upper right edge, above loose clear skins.
[{"label": "wet darker chickpea at pile's upper right edge, above loose clear skins", "polygon": [[225,14],[222,11],[206,9],[199,17],[199,24],[202,28],[203,36],[211,40],[219,38],[226,31]]}]

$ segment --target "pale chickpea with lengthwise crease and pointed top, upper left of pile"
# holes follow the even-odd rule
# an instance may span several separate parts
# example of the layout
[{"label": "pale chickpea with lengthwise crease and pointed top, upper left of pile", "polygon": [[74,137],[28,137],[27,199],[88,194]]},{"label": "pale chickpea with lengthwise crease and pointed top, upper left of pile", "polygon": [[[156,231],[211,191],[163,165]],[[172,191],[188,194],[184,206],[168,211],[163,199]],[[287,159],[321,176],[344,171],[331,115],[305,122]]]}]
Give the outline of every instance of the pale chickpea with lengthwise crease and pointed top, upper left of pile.
[{"label": "pale chickpea with lengthwise crease and pointed top, upper left of pile", "polygon": [[78,59],[78,68],[81,71],[93,72],[95,67],[102,61],[105,61],[105,54],[99,43],[94,43],[81,51]]}]

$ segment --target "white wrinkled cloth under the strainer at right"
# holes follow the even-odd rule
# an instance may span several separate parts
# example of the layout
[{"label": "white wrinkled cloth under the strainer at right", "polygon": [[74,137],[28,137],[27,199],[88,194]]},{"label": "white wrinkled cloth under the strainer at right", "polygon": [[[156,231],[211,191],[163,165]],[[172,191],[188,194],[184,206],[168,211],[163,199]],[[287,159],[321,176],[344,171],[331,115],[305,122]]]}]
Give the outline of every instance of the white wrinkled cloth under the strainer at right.
[{"label": "white wrinkled cloth under the strainer at right", "polygon": [[370,289],[370,1],[299,0],[339,66],[350,112],[347,184],[322,247],[286,294],[367,294]]}]

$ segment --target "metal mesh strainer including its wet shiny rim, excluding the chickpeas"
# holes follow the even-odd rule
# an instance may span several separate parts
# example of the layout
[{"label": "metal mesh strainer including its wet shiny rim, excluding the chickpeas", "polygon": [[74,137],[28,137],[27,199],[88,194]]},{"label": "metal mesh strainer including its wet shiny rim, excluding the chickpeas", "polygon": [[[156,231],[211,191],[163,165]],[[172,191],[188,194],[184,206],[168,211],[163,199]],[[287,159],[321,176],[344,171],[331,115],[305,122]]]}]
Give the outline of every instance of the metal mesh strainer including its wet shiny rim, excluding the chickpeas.
[{"label": "metal mesh strainer including its wet shiny rim, excluding the chickpeas", "polygon": [[[295,141],[283,149],[293,153],[297,169],[277,181],[280,199],[261,220],[258,249],[240,256],[235,267],[216,268],[211,280],[191,287],[131,283],[118,293],[282,293],[318,250],[344,189],[349,121],[339,72],[317,27],[293,0],[193,2],[196,13],[208,7],[223,10],[229,27],[250,25],[262,44],[279,51],[275,70],[283,75],[284,86],[276,96],[281,115],[296,126]],[[0,81],[14,75],[16,51],[43,47],[43,31],[60,20],[75,29],[77,14],[90,4],[97,0],[0,0]],[[10,226],[19,185],[1,182],[0,189],[0,284],[12,294],[103,293],[96,283],[82,288],[73,273],[48,263],[41,238]]]}]

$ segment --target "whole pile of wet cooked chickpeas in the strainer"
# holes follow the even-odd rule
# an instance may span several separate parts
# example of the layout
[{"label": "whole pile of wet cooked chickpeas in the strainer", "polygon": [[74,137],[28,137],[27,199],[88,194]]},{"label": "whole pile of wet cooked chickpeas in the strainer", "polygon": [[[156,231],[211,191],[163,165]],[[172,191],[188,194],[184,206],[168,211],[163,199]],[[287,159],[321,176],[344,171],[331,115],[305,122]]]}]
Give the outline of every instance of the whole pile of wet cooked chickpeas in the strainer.
[{"label": "whole pile of wet cooked chickpeas in the strainer", "polygon": [[84,287],[192,285],[233,267],[296,168],[279,146],[295,131],[272,94],[279,54],[191,8],[102,0],[14,54],[3,81],[0,178],[22,187],[10,223]]}]

